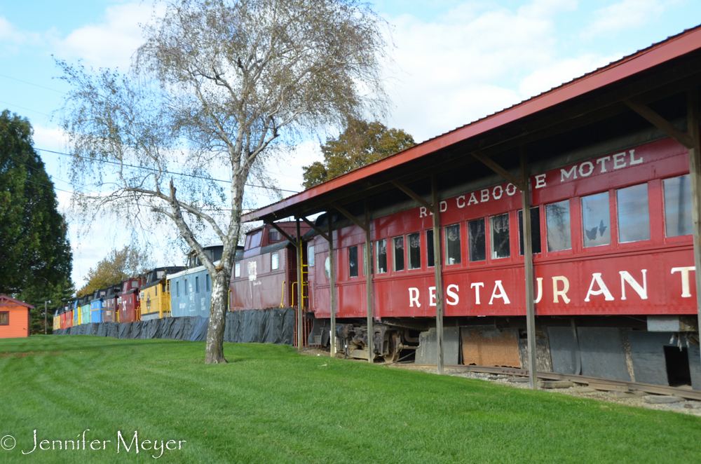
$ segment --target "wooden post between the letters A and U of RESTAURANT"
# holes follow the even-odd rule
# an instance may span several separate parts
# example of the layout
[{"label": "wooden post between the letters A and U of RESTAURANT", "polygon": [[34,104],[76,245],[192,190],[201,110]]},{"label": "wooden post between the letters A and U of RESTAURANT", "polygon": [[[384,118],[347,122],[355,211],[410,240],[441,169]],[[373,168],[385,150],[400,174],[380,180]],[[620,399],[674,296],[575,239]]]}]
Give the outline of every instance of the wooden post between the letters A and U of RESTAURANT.
[{"label": "wooden post between the letters A and U of RESTAURANT", "polygon": [[536,305],[533,303],[533,243],[531,238],[531,188],[529,185],[528,156],[521,147],[521,191],[524,234],[524,273],[526,275],[526,335],[528,336],[528,371],[531,388],[538,389],[538,367],[536,365]]}]

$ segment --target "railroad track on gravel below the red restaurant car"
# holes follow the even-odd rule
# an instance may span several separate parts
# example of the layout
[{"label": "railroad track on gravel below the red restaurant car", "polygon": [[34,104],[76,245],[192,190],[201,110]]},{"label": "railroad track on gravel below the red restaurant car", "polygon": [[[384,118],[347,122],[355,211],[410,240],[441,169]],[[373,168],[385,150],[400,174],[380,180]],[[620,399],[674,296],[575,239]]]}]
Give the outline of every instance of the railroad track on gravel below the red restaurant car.
[{"label": "railroad track on gravel below the red restaurant car", "polygon": [[[435,368],[435,364],[414,364],[416,367]],[[490,366],[465,366],[462,364],[445,364],[445,369],[463,372],[482,372],[486,374],[505,374],[511,376],[529,376],[529,371],[526,369],[517,369],[515,367],[490,367]],[[613,378],[601,378],[591,376],[579,376],[575,374],[559,374],[557,372],[538,372],[538,378],[543,380],[566,380],[573,383],[587,385],[596,390],[607,391],[641,391],[644,393],[653,393],[655,395],[672,395],[687,400],[701,401],[701,390],[687,390],[686,388],[666,387],[665,385],[653,385],[652,383],[631,382],[615,380]]]}]

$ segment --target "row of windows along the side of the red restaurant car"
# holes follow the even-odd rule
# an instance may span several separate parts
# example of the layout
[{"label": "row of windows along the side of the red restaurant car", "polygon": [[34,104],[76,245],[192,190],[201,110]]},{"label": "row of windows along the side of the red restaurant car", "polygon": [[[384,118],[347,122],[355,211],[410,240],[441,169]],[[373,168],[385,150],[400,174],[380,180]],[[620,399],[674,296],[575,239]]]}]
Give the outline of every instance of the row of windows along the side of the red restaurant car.
[{"label": "row of windows along the side of the red restaurant car", "polygon": [[[665,201],[665,235],[677,237],[689,235],[691,231],[691,190],[689,175],[664,179],[662,187]],[[611,245],[611,214],[608,191],[581,198],[583,246]],[[615,191],[618,219],[618,243],[650,240],[650,209],[648,184],[639,184]],[[519,252],[524,254],[523,212],[518,212]],[[547,251],[571,250],[570,201],[564,200],[545,205]],[[467,221],[468,259],[470,262],[486,261],[487,227],[489,227],[489,255],[491,259],[511,256],[509,214],[498,214],[489,218]],[[426,233],[426,266],[434,266],[433,231]],[[443,228],[445,265],[461,264],[461,224]],[[533,253],[540,253],[540,207],[531,208],[531,241]],[[358,246],[348,247],[348,275],[358,277]],[[365,245],[362,254],[365,256]],[[406,236],[383,238],[376,241],[376,272],[388,271],[388,246],[394,250],[391,264],[393,271],[405,268],[421,268],[421,235],[419,232]],[[405,251],[406,250],[406,251]],[[371,256],[372,260],[372,256]],[[365,275],[365,269],[363,269]]]}]

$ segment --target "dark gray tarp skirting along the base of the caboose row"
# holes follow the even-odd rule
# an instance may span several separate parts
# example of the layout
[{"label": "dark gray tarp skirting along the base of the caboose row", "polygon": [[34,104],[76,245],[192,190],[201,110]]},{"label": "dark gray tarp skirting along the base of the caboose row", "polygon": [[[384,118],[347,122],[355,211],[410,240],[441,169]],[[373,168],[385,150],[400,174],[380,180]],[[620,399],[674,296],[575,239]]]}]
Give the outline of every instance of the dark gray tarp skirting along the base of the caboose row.
[{"label": "dark gray tarp skirting along the base of the caboose row", "polygon": [[[170,339],[205,341],[209,318],[200,316],[99,322],[54,330],[54,335],[95,335],[113,339]],[[224,341],[233,343],[274,343],[292,345],[294,308],[268,308],[226,313]]]}]

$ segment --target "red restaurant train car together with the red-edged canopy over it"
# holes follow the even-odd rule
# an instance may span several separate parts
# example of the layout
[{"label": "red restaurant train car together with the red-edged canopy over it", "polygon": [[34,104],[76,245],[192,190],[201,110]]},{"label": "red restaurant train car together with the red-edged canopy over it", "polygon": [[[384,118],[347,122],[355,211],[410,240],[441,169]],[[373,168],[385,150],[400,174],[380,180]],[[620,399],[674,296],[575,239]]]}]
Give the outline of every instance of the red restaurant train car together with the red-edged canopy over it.
[{"label": "red restaurant train car together with the red-edged canopy over it", "polygon": [[690,29],[243,220],[325,213],[336,266],[309,238],[311,338],[330,328],[333,291],[346,355],[435,362],[440,285],[447,364],[526,367],[532,270],[539,370],[701,389],[688,174],[700,44]]}]

